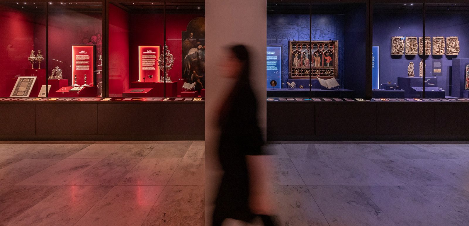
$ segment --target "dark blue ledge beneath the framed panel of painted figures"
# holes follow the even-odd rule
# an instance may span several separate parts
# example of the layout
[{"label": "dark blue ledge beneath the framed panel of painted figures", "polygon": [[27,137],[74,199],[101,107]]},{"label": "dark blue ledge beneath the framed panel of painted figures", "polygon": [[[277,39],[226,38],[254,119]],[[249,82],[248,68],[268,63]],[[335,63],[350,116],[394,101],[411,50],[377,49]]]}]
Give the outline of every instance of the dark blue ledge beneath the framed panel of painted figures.
[{"label": "dark blue ledge beneath the framed panel of painted figures", "polygon": [[355,91],[347,89],[267,89],[268,98],[354,98]]}]

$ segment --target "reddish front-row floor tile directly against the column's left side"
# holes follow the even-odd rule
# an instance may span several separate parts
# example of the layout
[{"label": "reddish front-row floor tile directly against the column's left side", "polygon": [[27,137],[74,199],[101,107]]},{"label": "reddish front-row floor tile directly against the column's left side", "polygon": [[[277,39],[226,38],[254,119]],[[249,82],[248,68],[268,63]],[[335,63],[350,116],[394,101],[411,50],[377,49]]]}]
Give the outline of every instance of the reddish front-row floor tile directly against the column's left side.
[{"label": "reddish front-row floor tile directly against the column's left side", "polygon": [[199,186],[166,186],[142,226],[204,226]]}]

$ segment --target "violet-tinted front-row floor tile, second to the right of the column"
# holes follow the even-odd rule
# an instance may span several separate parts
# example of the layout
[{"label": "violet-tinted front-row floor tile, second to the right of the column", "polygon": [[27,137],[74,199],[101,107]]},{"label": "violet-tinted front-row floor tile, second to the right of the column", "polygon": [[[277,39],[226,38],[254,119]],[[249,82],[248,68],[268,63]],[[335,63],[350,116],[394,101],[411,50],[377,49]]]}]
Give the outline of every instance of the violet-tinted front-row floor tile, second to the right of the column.
[{"label": "violet-tinted front-row floor tile, second to the right of the column", "polygon": [[395,226],[360,186],[308,186],[330,226]]}]

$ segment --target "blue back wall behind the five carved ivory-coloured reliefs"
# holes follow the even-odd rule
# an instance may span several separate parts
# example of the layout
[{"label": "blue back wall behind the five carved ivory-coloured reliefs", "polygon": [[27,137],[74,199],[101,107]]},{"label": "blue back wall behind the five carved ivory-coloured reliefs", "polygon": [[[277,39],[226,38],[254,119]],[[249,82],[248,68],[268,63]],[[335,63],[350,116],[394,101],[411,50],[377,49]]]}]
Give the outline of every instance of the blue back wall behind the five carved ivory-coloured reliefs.
[{"label": "blue back wall behind the five carved ivory-coloured reliefs", "polygon": [[[373,45],[380,48],[380,83],[397,83],[397,77],[407,77],[407,67],[410,61],[416,65],[415,75],[418,76],[420,55],[391,55],[391,37],[422,37],[422,15],[419,14],[384,14],[374,12],[373,15]],[[437,77],[438,86],[446,90],[449,96],[451,67],[454,58],[469,58],[469,16],[467,14],[427,14],[425,21],[425,36],[451,37],[457,36],[460,42],[460,53],[451,55],[430,55],[425,58],[425,77]],[[431,75],[431,61],[442,60],[443,75]]]}]

